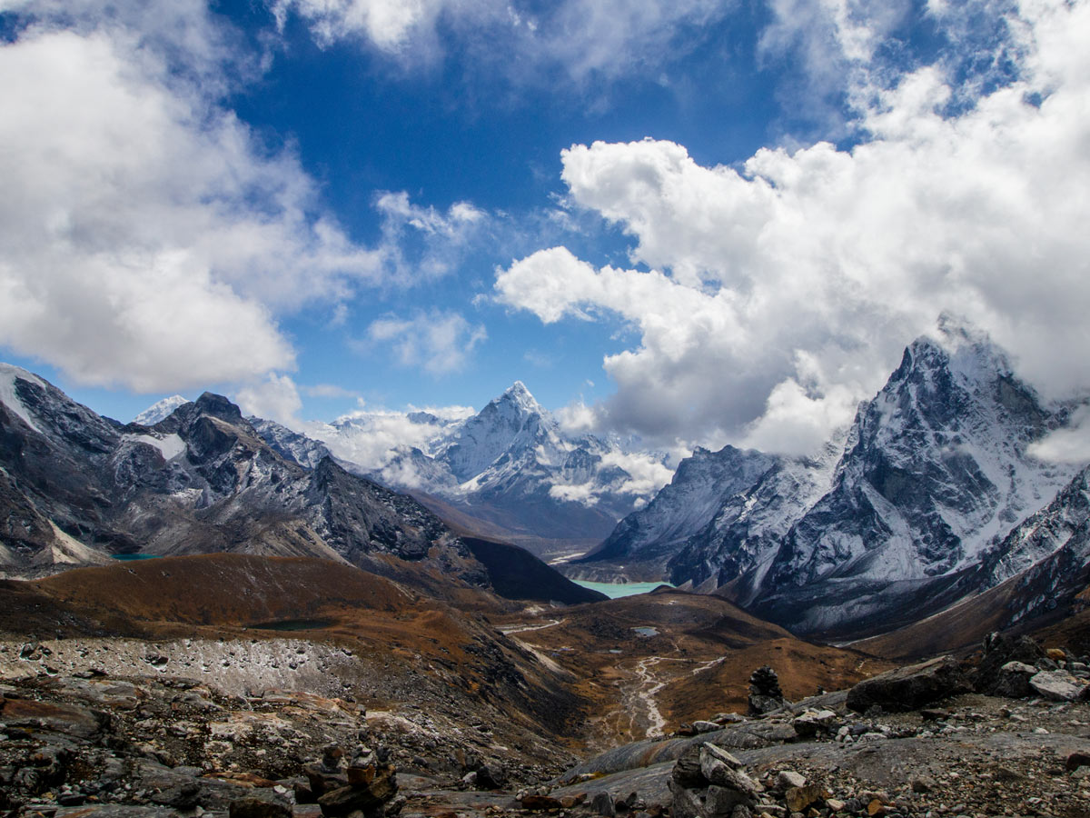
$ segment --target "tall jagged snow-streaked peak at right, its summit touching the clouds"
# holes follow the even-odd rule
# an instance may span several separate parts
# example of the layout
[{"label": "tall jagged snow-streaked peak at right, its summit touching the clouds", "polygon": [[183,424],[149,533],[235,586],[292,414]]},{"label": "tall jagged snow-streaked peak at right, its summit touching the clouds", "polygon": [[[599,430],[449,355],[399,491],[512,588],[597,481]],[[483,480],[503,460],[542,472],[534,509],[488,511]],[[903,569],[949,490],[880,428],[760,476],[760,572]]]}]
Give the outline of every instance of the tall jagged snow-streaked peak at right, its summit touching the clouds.
[{"label": "tall jagged snow-streaked peak at right, its summit touching the clouds", "polygon": [[945,340],[915,341],[859,411],[833,490],[791,527],[754,610],[806,631],[920,618],[1070,479],[1027,455],[1059,419],[1002,352]]}]

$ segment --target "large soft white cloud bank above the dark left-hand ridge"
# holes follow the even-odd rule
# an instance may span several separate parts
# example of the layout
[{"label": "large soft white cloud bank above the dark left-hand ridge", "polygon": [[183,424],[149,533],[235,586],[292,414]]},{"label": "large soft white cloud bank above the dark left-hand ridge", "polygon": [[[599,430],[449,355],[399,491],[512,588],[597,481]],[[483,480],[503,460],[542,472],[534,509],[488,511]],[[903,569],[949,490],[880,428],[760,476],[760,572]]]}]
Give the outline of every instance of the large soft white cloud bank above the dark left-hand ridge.
[{"label": "large soft white cloud bank above the dark left-hand ridge", "polygon": [[[486,215],[376,197],[353,241],[290,148],[225,105],[259,75],[198,0],[0,0],[0,345],[166,392],[295,366],[280,318],[446,275]],[[237,57],[237,53],[249,56]]]}]

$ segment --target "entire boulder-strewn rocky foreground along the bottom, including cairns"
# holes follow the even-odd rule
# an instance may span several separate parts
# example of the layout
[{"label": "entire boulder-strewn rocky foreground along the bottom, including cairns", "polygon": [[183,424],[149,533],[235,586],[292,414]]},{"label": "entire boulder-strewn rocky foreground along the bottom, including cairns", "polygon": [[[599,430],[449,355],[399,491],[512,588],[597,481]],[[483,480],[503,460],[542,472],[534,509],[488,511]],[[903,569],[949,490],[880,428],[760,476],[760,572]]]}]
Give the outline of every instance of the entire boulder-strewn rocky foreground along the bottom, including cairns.
[{"label": "entire boulder-strewn rocky foreground along the bottom, including cairns", "polygon": [[1028,639],[990,640],[972,667],[942,658],[798,703],[758,669],[747,714],[578,766],[420,709],[63,675],[24,647],[38,672],[0,685],[11,816],[1090,815],[1087,662]]}]

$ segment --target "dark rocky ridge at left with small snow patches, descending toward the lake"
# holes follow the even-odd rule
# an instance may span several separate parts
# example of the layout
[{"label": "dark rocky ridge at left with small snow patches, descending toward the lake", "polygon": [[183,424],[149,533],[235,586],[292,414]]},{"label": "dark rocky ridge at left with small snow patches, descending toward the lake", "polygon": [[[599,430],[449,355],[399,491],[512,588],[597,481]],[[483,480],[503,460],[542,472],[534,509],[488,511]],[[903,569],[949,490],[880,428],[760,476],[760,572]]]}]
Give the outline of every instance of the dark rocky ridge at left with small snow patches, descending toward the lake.
[{"label": "dark rocky ridge at left with small snow patches, descending toward the lake", "polygon": [[219,552],[322,557],[433,588],[494,588],[493,574],[509,586],[509,566],[488,564],[506,560],[536,573],[546,601],[598,598],[529,554],[479,557],[415,500],[331,457],[302,466],[282,456],[225,397],[205,393],[150,426],[122,425],[0,364],[3,576]]}]

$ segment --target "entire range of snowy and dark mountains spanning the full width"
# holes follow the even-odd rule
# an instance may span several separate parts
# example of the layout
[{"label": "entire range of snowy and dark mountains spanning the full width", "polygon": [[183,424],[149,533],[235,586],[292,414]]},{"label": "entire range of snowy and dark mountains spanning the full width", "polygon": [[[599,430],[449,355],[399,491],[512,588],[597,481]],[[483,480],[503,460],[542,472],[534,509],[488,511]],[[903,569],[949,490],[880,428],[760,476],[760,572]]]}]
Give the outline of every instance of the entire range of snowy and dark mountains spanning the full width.
[{"label": "entire range of snowy and dark mountains spanning the full width", "polygon": [[0,365],[0,570],[222,551],[586,598],[504,541],[590,549],[568,577],[668,580],[823,639],[923,633],[967,600],[1015,624],[1090,599],[1088,471],[1032,455],[1071,408],[946,322],[816,455],[698,448],[655,493],[665,458],[566,433],[519,382],[477,413],[360,414],[316,440],[207,393],[123,425]]}]

